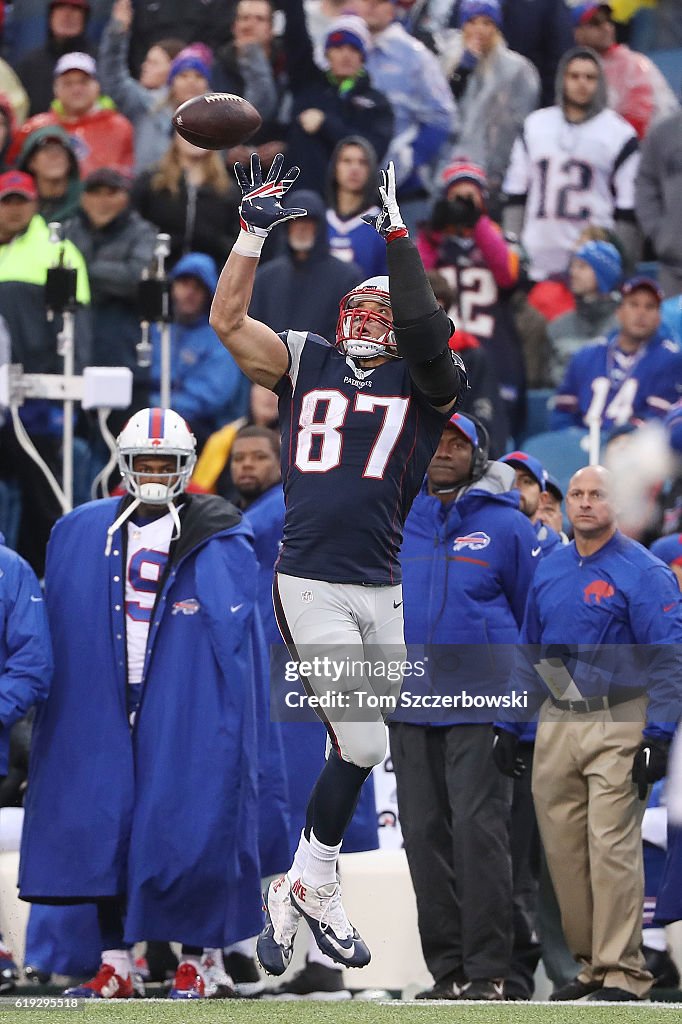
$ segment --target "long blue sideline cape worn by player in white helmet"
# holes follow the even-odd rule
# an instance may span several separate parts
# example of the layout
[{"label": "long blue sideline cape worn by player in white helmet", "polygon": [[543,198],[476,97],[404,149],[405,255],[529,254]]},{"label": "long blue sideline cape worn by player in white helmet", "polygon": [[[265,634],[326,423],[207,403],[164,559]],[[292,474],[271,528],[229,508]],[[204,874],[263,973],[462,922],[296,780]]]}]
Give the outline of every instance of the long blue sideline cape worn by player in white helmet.
[{"label": "long blue sideline cape worn by player in white helmet", "polygon": [[56,671],[34,729],[19,895],[127,893],[128,941],[226,945],[262,924],[254,677],[264,651],[251,528],[222,499],[185,498],[131,733],[125,527],[104,556],[120,508],[80,506],[48,545]]}]

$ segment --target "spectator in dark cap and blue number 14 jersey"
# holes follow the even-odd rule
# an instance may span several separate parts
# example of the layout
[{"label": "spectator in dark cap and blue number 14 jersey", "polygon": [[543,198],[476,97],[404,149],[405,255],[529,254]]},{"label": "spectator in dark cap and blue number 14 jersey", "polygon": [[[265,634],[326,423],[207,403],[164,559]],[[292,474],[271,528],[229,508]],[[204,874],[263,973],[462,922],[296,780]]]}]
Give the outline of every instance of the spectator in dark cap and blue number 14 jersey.
[{"label": "spectator in dark cap and blue number 14 jersey", "polygon": [[663,292],[650,278],[631,278],[622,289],[619,327],[570,362],[554,399],[553,430],[602,429],[663,419],[682,394],[682,351],[662,326]]}]

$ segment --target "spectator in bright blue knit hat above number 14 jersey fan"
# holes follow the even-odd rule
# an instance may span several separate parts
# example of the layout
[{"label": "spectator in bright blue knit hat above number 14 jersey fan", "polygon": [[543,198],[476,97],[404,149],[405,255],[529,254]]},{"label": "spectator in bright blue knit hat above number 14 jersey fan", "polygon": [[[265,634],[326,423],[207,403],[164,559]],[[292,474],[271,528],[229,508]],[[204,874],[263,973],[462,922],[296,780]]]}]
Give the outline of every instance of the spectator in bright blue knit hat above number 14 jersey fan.
[{"label": "spectator in bright blue knit hat above number 14 jersey fan", "polygon": [[554,385],[561,382],[576,352],[616,327],[622,274],[621,254],[610,242],[586,242],[576,250],[568,267],[576,308],[547,326],[549,369]]}]

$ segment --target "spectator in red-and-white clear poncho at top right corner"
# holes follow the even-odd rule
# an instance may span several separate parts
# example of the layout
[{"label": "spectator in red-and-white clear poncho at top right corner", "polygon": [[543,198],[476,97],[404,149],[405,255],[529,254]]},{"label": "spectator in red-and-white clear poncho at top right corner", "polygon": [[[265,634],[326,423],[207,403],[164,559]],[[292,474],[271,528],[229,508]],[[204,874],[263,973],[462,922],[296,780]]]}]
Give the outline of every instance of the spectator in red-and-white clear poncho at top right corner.
[{"label": "spectator in red-and-white clear poncho at top right corner", "polygon": [[616,43],[609,3],[579,3],[571,9],[579,46],[596,50],[604,66],[608,105],[629,121],[643,138],[651,124],[679,110],[670,85],[643,53]]}]

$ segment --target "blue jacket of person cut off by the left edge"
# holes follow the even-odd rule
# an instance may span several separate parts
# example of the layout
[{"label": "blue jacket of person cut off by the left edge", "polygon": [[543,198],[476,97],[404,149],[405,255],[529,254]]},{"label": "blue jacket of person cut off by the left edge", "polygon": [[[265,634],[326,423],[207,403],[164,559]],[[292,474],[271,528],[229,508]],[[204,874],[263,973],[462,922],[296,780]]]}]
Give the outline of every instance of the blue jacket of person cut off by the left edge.
[{"label": "blue jacket of person cut off by the left edge", "polygon": [[9,733],[30,708],[45,700],[52,648],[36,574],[0,535],[0,775],[9,770]]}]

